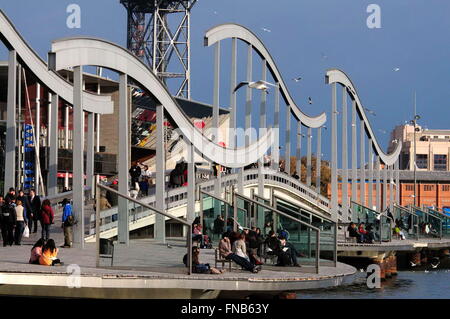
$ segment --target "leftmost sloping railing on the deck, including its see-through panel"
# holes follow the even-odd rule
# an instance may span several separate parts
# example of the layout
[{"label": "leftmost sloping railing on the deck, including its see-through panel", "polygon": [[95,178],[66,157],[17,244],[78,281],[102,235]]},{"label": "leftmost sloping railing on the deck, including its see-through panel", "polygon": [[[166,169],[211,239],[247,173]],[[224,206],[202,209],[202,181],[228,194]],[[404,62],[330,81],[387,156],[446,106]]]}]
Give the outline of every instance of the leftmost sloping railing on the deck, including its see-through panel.
[{"label": "leftmost sloping railing on the deck, including its see-through panel", "polygon": [[[162,216],[166,220],[181,224],[184,227],[185,239],[168,244],[161,244],[152,239],[151,232],[139,234],[138,240],[133,240],[133,228],[130,227],[127,236],[130,238],[127,244],[125,237],[118,237],[116,241],[102,235],[100,231],[100,191],[108,191],[115,194],[119,200],[126,200],[140,210],[148,210],[156,216]],[[130,196],[119,193],[117,190],[105,185],[97,184],[96,213],[95,213],[95,241],[96,241],[96,267],[140,269],[147,271],[179,273],[185,269],[187,274],[192,273],[192,225],[182,218],[173,216],[165,211],[160,211],[146,203]],[[123,218],[126,214],[119,216]],[[126,225],[125,223],[123,225]],[[124,236],[124,233],[121,233]],[[125,232],[126,234],[126,232]],[[170,249],[170,253],[168,250]],[[183,265],[183,255],[187,255],[186,265]],[[164,270],[161,270],[164,269]]]}]

